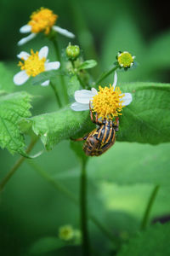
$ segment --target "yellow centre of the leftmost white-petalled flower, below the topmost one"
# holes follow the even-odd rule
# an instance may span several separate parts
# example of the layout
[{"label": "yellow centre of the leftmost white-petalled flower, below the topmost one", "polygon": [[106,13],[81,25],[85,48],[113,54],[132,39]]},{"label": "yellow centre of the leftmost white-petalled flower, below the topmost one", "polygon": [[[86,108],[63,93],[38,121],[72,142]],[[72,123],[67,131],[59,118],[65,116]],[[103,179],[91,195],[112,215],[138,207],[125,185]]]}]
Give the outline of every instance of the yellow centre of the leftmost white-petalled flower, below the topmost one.
[{"label": "yellow centre of the leftmost white-petalled flower, below the topmost one", "polygon": [[20,61],[19,66],[21,70],[26,70],[28,76],[36,77],[39,73],[45,71],[45,61],[46,58],[39,58],[38,51],[34,53],[33,49],[31,49],[31,55],[24,63]]}]

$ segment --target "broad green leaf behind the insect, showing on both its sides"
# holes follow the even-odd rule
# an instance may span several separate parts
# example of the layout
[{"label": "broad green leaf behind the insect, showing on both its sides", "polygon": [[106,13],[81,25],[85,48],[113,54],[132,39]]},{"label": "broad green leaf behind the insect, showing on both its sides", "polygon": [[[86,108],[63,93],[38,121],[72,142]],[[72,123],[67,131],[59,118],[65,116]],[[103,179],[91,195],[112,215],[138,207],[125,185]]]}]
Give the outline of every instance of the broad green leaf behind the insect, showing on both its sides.
[{"label": "broad green leaf behind the insect, showing on both its sides", "polygon": [[[133,83],[124,84],[121,89],[132,93],[133,102],[123,108],[116,139],[150,144],[169,142],[170,84]],[[75,112],[70,107],[35,116],[30,121],[48,150],[61,140],[82,137],[94,128],[89,111]]]}]

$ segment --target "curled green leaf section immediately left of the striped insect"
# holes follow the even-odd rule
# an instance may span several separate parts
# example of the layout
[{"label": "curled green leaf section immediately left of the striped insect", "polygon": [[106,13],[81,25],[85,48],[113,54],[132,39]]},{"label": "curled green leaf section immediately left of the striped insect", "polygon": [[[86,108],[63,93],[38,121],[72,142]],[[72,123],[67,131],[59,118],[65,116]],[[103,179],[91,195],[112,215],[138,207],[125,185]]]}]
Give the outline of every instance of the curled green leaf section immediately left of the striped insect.
[{"label": "curled green leaf section immediately left of the striped insect", "polygon": [[44,146],[50,150],[57,143],[70,137],[78,136],[92,129],[88,112],[74,112],[71,108],[61,109],[59,112],[44,113],[30,119],[32,130],[41,137]]}]

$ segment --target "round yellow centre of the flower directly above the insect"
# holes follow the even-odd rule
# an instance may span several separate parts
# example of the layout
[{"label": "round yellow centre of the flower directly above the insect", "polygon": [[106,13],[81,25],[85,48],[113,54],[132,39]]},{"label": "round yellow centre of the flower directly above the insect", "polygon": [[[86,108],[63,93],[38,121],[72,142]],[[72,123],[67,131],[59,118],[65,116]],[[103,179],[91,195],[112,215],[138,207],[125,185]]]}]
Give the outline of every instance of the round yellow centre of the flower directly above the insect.
[{"label": "round yellow centre of the flower directly above the insect", "polygon": [[98,117],[102,119],[112,119],[122,111],[122,94],[119,87],[114,88],[110,84],[110,88],[102,88],[99,86],[99,92],[93,97],[93,111],[98,113]]}]

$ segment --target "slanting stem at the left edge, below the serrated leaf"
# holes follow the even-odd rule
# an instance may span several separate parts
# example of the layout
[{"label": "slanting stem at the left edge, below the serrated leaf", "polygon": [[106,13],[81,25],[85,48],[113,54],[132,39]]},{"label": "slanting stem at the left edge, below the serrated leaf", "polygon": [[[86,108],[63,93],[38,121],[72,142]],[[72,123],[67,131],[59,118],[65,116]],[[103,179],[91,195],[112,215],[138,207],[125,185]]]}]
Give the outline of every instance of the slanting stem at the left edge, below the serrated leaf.
[{"label": "slanting stem at the left edge, below the serrated leaf", "polygon": [[[31,149],[34,147],[36,143],[37,143],[37,138],[31,140],[30,145],[26,149],[27,154],[31,152]],[[14,172],[16,172],[16,170],[21,166],[24,160],[26,160],[26,158],[24,156],[21,156],[20,159],[15,162],[14,166],[10,169],[7,175],[3,177],[3,180],[0,183],[0,192],[3,191],[3,188],[5,187],[6,183],[8,183],[8,180],[14,175]]]}]

